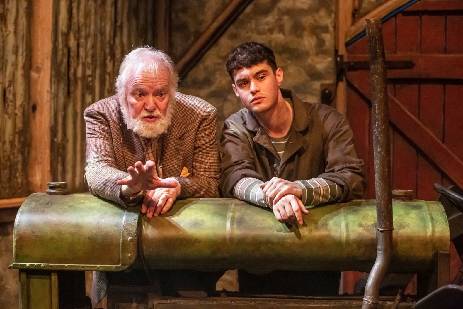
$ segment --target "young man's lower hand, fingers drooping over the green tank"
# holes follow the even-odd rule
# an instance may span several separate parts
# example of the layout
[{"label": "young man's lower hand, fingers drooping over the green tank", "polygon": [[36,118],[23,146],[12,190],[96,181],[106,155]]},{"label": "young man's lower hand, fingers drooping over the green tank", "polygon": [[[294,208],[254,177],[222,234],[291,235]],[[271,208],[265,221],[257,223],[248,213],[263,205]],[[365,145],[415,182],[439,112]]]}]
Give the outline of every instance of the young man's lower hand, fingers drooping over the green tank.
[{"label": "young man's lower hand, fingers drooping over the green tank", "polygon": [[305,214],[309,213],[301,200],[293,194],[286,194],[271,207],[275,214],[275,218],[281,223],[299,223],[302,225],[303,220],[301,212]]}]

